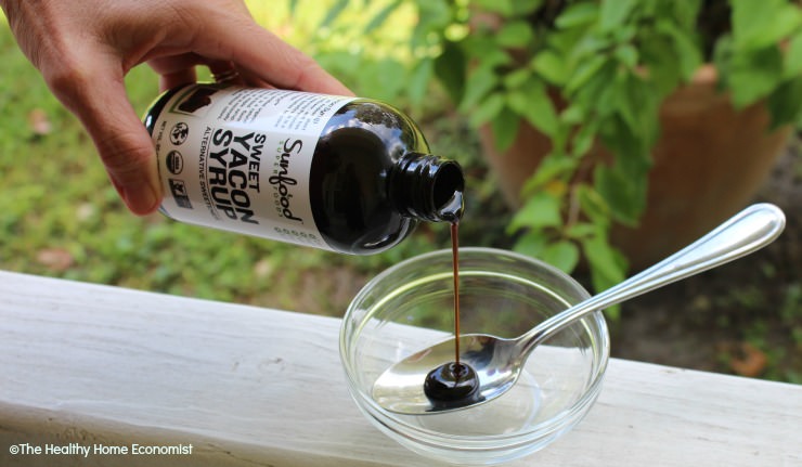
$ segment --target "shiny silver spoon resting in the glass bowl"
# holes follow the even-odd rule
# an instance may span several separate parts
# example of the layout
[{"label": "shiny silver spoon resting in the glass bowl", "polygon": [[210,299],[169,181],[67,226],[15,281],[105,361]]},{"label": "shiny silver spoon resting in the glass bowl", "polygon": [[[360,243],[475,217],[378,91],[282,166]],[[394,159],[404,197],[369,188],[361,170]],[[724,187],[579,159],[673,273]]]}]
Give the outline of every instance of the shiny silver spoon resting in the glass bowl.
[{"label": "shiny silver spoon resting in the glass bowl", "polygon": [[681,278],[749,255],[772,243],[785,228],[782,211],[756,204],[734,216],[684,249],[579,304],[551,316],[515,339],[482,334],[461,336],[460,360],[479,378],[479,397],[432,404],[424,393],[426,375],[454,356],[454,338],[416,352],[384,372],[373,386],[373,399],[384,408],[424,415],[489,402],[515,385],[535,347],[577,320]]}]

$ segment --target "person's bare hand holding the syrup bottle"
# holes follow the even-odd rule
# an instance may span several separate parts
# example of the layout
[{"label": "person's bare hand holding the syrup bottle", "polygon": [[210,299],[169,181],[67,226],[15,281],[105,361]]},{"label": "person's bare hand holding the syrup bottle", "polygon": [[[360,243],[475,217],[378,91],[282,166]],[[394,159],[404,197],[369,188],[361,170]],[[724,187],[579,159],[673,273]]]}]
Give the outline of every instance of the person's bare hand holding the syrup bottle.
[{"label": "person's bare hand holding the syrup bottle", "polygon": [[[156,157],[124,78],[147,63],[161,89],[195,66],[247,86],[350,95],[309,56],[257,25],[242,0],[0,0],[20,48],[91,135],[137,215],[161,202]],[[155,98],[155,96],[154,96]]]}]

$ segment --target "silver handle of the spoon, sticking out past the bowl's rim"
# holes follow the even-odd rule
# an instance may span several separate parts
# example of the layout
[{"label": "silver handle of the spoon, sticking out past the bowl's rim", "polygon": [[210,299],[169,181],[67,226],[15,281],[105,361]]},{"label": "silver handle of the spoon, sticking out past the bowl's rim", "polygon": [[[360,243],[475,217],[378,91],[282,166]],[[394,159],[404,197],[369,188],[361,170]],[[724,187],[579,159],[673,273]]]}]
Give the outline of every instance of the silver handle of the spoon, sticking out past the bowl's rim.
[{"label": "silver handle of the spoon, sticking out past the bowl's rim", "polygon": [[585,314],[749,255],[777,238],[785,224],[778,207],[752,205],[651,268],[542,322],[521,337],[521,353]]}]

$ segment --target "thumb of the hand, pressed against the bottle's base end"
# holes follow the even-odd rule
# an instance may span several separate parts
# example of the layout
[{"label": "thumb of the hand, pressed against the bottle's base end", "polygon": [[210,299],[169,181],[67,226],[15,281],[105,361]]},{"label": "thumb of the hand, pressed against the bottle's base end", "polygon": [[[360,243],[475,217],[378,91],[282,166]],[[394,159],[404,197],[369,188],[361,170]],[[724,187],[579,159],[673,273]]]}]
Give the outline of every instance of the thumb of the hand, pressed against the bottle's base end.
[{"label": "thumb of the hand, pressed against the bottle's base end", "polygon": [[100,79],[73,76],[54,93],[80,120],[94,142],[112,183],[131,212],[156,210],[161,202],[156,154],[147,130],[137,116],[120,76],[98,74]]}]

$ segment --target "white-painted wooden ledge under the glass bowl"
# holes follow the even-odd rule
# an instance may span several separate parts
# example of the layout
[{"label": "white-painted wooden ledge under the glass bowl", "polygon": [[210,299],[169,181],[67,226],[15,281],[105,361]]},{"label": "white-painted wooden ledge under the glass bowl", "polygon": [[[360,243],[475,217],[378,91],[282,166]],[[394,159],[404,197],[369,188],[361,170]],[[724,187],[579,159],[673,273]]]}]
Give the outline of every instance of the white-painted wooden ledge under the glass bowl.
[{"label": "white-painted wooden ledge under the glass bowl", "polygon": [[[435,465],[358,412],[339,320],[8,272],[0,296],[2,466]],[[802,465],[800,429],[802,386],[612,360],[588,416],[508,465]]]}]

